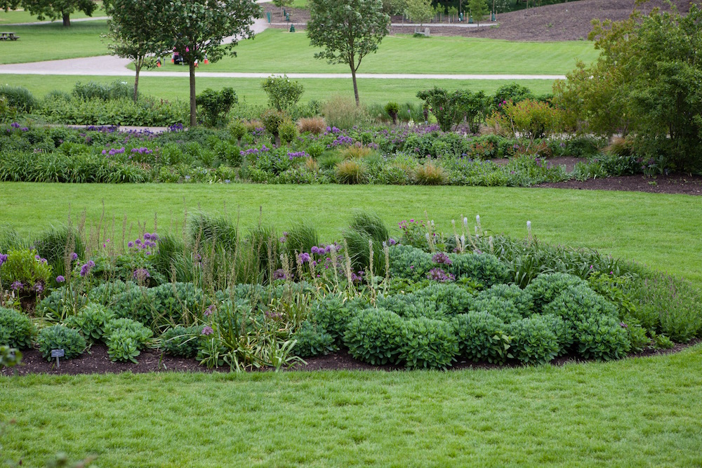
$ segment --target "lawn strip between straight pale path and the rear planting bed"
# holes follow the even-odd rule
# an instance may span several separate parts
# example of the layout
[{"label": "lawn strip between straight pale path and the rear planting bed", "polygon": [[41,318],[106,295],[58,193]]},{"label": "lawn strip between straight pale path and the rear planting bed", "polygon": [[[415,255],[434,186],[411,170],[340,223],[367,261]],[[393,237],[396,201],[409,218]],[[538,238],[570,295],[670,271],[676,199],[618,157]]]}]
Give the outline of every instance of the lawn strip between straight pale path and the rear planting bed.
[{"label": "lawn strip between straight pale path and the rear planting bed", "polygon": [[[41,98],[46,93],[54,90],[70,93],[76,81],[85,83],[86,81],[96,81],[98,83],[112,83],[121,80],[134,83],[134,76],[62,76],[62,75],[2,75],[0,83],[8,83],[13,86],[24,86],[29,91]],[[172,78],[169,76],[140,76],[139,90],[144,95],[154,96],[161,99],[181,99],[187,100],[188,81],[187,77]],[[249,104],[265,105],[267,96],[260,87],[263,79],[258,78],[206,78],[197,77],[197,92],[206,88],[221,89],[231,86],[237,91],[239,102]],[[299,79],[305,86],[305,93],[300,102],[310,100],[324,101],[333,95],[344,95],[353,98],[353,88],[350,79]],[[505,80],[415,80],[415,79],[359,79],[359,94],[362,102],[371,104],[378,102],[385,105],[388,100],[395,100],[399,103],[420,102],[417,98],[417,91],[428,89],[432,86],[442,86],[446,89],[468,88],[472,91],[485,91],[492,94],[497,88],[512,81]],[[524,86],[528,86],[534,93],[550,93],[552,81],[550,80],[520,80]]]}]

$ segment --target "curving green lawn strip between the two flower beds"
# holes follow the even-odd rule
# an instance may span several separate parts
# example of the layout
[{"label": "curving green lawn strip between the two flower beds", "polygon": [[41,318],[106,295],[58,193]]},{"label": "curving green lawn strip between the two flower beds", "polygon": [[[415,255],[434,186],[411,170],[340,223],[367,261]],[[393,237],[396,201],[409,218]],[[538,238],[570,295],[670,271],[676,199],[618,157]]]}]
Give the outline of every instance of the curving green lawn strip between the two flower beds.
[{"label": "curving green lawn strip between the two flower beds", "polygon": [[3,182],[0,222],[22,235],[67,220],[86,210],[97,222],[105,203],[106,220],[114,228],[108,236],[119,239],[122,220],[152,227],[158,215],[159,231],[182,224],[185,209],[226,212],[251,226],[263,210],[263,220],[279,230],[308,222],[322,239],[338,239],[355,208],[375,210],[398,234],[397,222],[430,218],[445,232],[462,215],[496,233],[526,236],[531,220],[534,234],[550,243],[596,248],[628,260],[679,274],[702,283],[702,203],[696,196],[636,192],[592,192],[563,189],[486,187],[397,187],[341,185],[70,185]]}]

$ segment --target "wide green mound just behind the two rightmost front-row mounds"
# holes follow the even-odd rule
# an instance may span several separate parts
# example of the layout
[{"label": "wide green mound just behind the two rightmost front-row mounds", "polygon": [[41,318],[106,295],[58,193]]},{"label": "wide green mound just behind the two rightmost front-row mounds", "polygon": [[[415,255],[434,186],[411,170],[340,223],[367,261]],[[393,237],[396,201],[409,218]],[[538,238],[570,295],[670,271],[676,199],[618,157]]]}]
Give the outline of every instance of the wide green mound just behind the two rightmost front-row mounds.
[{"label": "wide green mound just behind the two rightmost front-row mounds", "polygon": [[544,314],[554,314],[576,323],[591,316],[618,316],[616,306],[588,286],[570,286],[543,307]]}]

